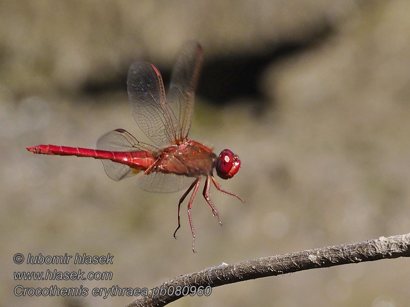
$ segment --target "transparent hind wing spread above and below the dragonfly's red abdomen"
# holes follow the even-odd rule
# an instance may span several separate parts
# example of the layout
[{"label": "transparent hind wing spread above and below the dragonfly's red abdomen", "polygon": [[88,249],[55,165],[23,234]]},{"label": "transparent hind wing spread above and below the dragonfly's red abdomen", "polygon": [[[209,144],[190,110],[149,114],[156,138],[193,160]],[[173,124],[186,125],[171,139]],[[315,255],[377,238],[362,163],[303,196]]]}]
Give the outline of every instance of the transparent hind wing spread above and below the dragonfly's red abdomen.
[{"label": "transparent hind wing spread above and below the dragonfly's red abdomen", "polygon": [[[97,149],[109,151],[153,151],[156,150],[156,147],[138,142],[124,129],[116,129],[106,133],[98,139]],[[111,160],[104,159],[101,160],[101,162],[103,162],[104,170],[108,177],[116,181],[134,176],[140,172],[126,164],[113,162]]]}]

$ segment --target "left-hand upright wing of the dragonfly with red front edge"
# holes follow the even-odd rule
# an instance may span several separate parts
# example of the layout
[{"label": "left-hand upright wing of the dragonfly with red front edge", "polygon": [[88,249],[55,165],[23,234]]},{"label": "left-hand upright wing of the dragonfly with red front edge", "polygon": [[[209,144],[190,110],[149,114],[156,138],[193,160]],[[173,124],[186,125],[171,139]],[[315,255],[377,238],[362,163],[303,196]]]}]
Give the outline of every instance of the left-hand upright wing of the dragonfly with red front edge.
[{"label": "left-hand upright wing of the dragonfly with red front edge", "polygon": [[165,98],[159,70],[148,62],[134,62],[128,71],[128,97],[139,128],[158,147],[175,140],[179,123]]}]

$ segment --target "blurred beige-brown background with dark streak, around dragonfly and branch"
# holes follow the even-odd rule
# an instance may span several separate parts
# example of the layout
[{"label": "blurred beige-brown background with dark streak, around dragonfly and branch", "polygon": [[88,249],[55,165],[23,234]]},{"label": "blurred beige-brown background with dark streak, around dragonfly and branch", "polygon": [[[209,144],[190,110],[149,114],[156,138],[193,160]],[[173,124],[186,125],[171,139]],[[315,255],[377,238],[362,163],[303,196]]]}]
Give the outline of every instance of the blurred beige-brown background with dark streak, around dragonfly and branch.
[{"label": "blurred beige-brown background with dark streak, around dragonfly and branch", "polygon": [[[226,262],[408,233],[410,4],[406,0],[2,1],[0,194],[3,305],[126,305],[135,297],[16,297],[24,287],[153,288]],[[187,39],[204,49],[190,139],[242,161],[201,195],[160,194],[101,162],[25,147],[142,141],[128,104],[135,60],[168,87]],[[15,253],[114,255],[113,265],[15,265]],[[107,281],[16,281],[14,271],[111,271]],[[408,259],[250,280],[173,306],[403,306]],[[90,290],[91,293],[91,290]]]}]

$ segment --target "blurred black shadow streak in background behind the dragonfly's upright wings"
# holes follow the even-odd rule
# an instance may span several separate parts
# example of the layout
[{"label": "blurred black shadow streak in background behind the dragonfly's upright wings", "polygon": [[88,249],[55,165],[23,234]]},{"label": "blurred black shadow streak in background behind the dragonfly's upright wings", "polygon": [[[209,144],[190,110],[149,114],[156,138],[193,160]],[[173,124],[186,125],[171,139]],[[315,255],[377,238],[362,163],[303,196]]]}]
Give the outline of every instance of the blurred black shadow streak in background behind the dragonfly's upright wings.
[{"label": "blurred black shadow streak in background behind the dragonfly's upright wings", "polygon": [[[263,71],[273,63],[280,61],[284,57],[301,53],[309,48],[314,48],[329,35],[332,28],[323,23],[318,26],[316,33],[312,33],[310,38],[303,41],[282,42],[281,45],[274,45],[265,49],[264,52],[255,54],[233,54],[225,57],[215,57],[204,59],[202,71],[199,77],[199,84],[196,94],[212,104],[224,105],[231,101],[249,101],[254,107],[255,115],[263,114],[267,107],[274,107],[272,99],[262,93],[260,88],[260,78]],[[171,71],[161,69],[166,89],[168,89]],[[107,82],[87,82],[83,91],[86,95],[99,95],[108,91],[127,90],[127,71],[124,65],[123,72]]]}]

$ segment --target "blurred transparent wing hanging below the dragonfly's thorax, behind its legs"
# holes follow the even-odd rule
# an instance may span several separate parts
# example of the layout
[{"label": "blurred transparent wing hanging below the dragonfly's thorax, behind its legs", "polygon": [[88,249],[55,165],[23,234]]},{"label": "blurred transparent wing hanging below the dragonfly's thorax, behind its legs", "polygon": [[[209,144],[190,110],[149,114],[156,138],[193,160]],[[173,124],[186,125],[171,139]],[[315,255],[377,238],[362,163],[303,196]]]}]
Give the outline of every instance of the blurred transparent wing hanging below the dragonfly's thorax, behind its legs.
[{"label": "blurred transparent wing hanging below the dragonfly's thorax, behind its legs", "polygon": [[194,180],[192,177],[154,172],[141,176],[139,187],[149,192],[176,192],[188,187]]}]

